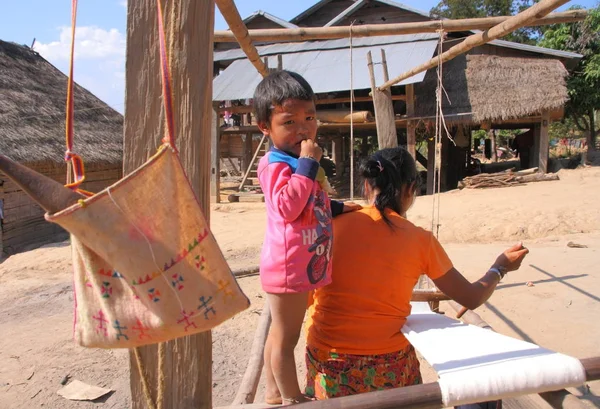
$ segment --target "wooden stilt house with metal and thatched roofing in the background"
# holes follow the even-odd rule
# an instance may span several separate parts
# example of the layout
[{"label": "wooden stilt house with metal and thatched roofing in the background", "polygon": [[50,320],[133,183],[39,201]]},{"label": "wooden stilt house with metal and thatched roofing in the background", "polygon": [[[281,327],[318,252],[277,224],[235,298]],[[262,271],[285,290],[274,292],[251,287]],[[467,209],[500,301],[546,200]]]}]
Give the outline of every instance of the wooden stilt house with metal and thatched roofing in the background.
[{"label": "wooden stilt house with metal and thatched roofing in the background", "polygon": [[[299,27],[335,27],[429,21],[423,11],[391,0],[321,0],[290,20]],[[251,27],[248,27],[251,29]],[[448,33],[442,43],[445,51],[472,34]],[[250,98],[261,77],[239,48],[215,48],[214,63],[220,75],[213,81],[213,100],[221,104],[238,105],[238,113],[251,111]],[[234,43],[226,43],[229,46]],[[350,45],[352,44],[352,61]],[[389,77],[404,73],[438,53],[439,36],[431,34],[395,35],[320,41],[298,41],[277,44],[257,44],[259,54],[271,68],[282,62],[284,69],[297,71],[311,84],[318,96],[320,110],[348,110],[350,101],[350,65],[353,68],[354,110],[373,112],[369,98],[371,82],[367,53],[375,64],[375,83],[383,84],[380,64],[385,51]],[[470,160],[471,131],[477,129],[530,128],[534,131],[531,166],[547,158],[547,143],[541,140],[541,129],[563,115],[566,102],[568,69],[575,66],[580,55],[545,49],[503,40],[494,40],[475,47],[465,55],[443,65],[442,84],[445,89],[443,112],[454,144],[443,138],[442,190],[453,189],[466,175]],[[437,72],[429,70],[408,78],[391,88],[394,100],[397,138],[407,143],[407,133],[418,128],[421,140],[431,139],[436,117]],[[229,101],[229,102],[226,102]],[[233,101],[233,102],[232,102]],[[219,110],[222,113],[222,110]],[[336,162],[338,174],[349,168],[349,134],[347,123],[321,121],[319,141]],[[240,126],[221,128],[219,134],[257,133],[247,121]],[[376,137],[376,124],[354,124],[354,136],[359,140],[354,149],[360,155],[368,153]],[[424,135],[425,134],[425,135]],[[466,136],[466,137],[465,137]],[[239,137],[239,136],[238,136]],[[361,141],[361,142],[360,142]],[[454,141],[456,142],[456,141]],[[433,146],[422,146],[429,158],[416,158],[433,174]],[[545,155],[545,156],[544,156]],[[428,186],[431,192],[433,186]]]}]

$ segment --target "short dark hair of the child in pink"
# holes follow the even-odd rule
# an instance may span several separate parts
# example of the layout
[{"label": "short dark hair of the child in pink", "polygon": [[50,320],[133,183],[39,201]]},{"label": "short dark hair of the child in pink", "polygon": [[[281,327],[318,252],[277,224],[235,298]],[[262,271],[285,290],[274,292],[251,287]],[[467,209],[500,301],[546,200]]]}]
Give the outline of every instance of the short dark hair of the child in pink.
[{"label": "short dark hair of the child in pink", "polygon": [[256,122],[269,124],[273,108],[287,99],[313,101],[315,93],[300,74],[292,71],[276,71],[265,77],[254,90]]}]

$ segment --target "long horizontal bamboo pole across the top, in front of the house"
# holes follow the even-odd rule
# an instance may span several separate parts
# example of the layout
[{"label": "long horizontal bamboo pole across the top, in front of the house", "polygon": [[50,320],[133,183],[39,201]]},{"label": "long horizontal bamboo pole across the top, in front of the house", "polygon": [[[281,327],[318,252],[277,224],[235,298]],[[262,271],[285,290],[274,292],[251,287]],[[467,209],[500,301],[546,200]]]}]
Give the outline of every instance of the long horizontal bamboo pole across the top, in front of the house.
[{"label": "long horizontal bamboo pole across the top, in front of the house", "polygon": [[[530,26],[542,26],[548,24],[573,23],[586,18],[586,10],[570,10],[561,13],[552,13],[544,18],[529,23]],[[443,20],[446,32],[487,30],[511,18],[511,16],[469,18],[460,20]],[[354,38],[376,37],[386,35],[435,33],[440,28],[440,20],[419,21],[413,23],[396,24],[365,24],[340,27],[299,27],[285,29],[260,29],[249,30],[248,35],[252,41],[308,41],[308,40],[330,40],[336,38],[348,38],[351,32]],[[235,42],[236,37],[231,31],[215,31],[215,42]]]}]

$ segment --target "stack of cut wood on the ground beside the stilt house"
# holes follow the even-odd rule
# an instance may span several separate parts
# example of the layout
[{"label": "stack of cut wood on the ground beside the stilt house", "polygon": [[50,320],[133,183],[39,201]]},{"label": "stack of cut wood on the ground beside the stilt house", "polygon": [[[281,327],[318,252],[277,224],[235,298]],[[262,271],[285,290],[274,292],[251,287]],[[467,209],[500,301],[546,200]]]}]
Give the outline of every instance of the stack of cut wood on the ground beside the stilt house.
[{"label": "stack of cut wood on the ground beside the stilt house", "polygon": [[481,173],[466,177],[458,183],[458,188],[484,189],[490,187],[507,187],[521,183],[544,182],[547,180],[559,180],[559,178],[555,173],[538,173],[538,168],[519,172],[509,169],[501,173]]}]

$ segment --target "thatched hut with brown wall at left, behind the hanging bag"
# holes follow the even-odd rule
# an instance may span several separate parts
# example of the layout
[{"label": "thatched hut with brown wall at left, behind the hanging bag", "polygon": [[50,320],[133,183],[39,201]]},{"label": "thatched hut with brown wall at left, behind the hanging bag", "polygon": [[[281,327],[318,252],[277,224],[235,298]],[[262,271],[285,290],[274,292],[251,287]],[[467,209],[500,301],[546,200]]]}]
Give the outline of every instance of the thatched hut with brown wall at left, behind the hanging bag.
[{"label": "thatched hut with brown wall at left, behind the hanging bag", "polygon": [[[26,46],[0,41],[0,153],[65,181],[67,77]],[[98,191],[122,176],[123,116],[75,86],[75,146],[86,165],[84,188]],[[0,173],[0,254],[62,240],[43,210]]]}]

